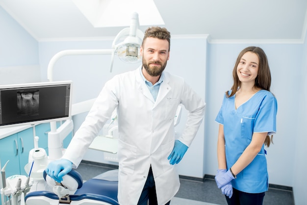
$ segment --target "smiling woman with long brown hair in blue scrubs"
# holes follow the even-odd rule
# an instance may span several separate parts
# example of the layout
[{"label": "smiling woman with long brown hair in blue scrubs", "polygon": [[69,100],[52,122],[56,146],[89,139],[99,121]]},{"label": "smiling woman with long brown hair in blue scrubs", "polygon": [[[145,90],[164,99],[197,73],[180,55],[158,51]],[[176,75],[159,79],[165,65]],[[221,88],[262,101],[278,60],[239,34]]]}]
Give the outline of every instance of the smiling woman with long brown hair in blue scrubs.
[{"label": "smiling woman with long brown hair in blue scrubs", "polygon": [[229,205],[262,205],[268,191],[266,151],[276,133],[277,101],[270,92],[271,73],[261,48],[240,52],[233,85],[215,119],[219,123],[215,176]]}]

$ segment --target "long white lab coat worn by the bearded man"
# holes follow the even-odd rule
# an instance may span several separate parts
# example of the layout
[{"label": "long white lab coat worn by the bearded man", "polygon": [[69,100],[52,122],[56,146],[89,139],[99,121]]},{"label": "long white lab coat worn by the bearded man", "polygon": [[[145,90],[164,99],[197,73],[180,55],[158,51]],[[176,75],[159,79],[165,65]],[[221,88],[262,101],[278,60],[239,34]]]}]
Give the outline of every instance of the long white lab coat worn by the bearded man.
[{"label": "long white lab coat worn by the bearded man", "polygon": [[204,118],[204,101],[181,77],[164,71],[156,101],[140,68],[107,81],[63,158],[78,166],[92,140],[117,107],[119,188],[121,205],[136,205],[152,165],[158,205],[179,190],[179,175],[168,155],[175,142],[174,117],[180,103],[189,111],[179,140],[188,147]]}]

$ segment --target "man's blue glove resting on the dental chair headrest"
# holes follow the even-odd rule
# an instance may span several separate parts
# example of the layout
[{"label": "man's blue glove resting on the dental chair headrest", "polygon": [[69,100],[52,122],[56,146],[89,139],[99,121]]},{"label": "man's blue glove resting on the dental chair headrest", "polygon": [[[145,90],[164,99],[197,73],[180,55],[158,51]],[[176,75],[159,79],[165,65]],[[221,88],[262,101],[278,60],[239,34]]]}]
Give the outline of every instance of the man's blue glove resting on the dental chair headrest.
[{"label": "man's blue glove resting on the dental chair headrest", "polygon": [[45,169],[47,175],[57,182],[63,180],[63,176],[69,173],[73,168],[73,163],[68,159],[59,159],[51,161]]}]

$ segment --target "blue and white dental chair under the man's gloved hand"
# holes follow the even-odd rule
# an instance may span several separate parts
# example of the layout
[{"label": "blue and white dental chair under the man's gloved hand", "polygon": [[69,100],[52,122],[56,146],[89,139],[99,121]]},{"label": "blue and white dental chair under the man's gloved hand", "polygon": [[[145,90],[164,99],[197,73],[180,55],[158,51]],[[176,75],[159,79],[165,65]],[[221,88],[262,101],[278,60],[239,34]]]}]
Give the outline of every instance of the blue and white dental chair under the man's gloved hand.
[{"label": "blue and white dental chair under the man's gloved hand", "polygon": [[33,191],[25,197],[26,205],[119,205],[118,181],[89,179],[83,183],[81,175],[70,171],[57,183],[44,171],[44,179],[52,191]]}]

